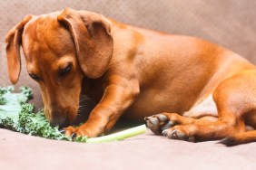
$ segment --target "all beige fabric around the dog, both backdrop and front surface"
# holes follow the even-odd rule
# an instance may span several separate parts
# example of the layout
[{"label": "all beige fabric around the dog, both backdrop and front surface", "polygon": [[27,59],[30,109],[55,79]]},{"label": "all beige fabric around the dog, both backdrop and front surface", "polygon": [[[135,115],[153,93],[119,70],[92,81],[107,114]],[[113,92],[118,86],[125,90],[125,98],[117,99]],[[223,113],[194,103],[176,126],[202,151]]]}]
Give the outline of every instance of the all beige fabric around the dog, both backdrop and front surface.
[{"label": "all beige fabric around the dog, both backdrop and front surface", "polygon": [[[64,7],[85,9],[167,33],[197,36],[221,44],[256,63],[256,1],[253,0],[8,0],[0,1],[0,86],[10,85],[5,34],[26,14],[46,14]],[[26,75],[17,86],[40,90]],[[255,169],[256,144],[225,147],[192,144],[145,135],[122,142],[77,144],[30,137],[0,129],[0,169]]]}]

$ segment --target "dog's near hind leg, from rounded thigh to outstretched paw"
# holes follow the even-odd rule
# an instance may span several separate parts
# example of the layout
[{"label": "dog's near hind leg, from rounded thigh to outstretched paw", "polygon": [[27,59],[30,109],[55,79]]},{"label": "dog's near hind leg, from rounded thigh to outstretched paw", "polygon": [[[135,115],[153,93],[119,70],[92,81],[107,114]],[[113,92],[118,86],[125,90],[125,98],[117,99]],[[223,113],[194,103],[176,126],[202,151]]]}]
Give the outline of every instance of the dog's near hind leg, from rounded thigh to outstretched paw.
[{"label": "dog's near hind leg, from rounded thigh to outstretched paw", "polygon": [[[200,119],[192,120],[191,124],[176,125],[164,130],[164,136],[173,139],[213,140],[224,137],[236,137],[250,141],[253,132],[241,133],[246,130],[244,117],[256,109],[254,85],[255,72],[242,72],[228,80],[222,81],[214,91],[213,99],[218,109],[219,118],[216,122],[205,122]],[[248,82],[248,83],[244,83]],[[180,118],[182,119],[182,118]],[[237,135],[236,135],[237,134]],[[240,135],[239,135],[240,134]],[[239,137],[240,136],[240,137]],[[226,142],[229,140],[227,139]]]}]

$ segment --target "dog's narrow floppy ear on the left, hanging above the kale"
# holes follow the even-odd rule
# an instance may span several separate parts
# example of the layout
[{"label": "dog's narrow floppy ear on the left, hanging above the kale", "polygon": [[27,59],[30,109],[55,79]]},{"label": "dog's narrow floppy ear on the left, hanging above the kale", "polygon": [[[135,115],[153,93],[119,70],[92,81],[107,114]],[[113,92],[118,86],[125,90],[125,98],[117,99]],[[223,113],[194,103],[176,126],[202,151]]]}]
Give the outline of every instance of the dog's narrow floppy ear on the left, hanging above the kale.
[{"label": "dog's narrow floppy ear on the left, hanging above the kale", "polygon": [[6,55],[8,62],[9,78],[13,84],[19,79],[21,71],[20,45],[25,24],[31,20],[32,15],[27,15],[5,37]]}]

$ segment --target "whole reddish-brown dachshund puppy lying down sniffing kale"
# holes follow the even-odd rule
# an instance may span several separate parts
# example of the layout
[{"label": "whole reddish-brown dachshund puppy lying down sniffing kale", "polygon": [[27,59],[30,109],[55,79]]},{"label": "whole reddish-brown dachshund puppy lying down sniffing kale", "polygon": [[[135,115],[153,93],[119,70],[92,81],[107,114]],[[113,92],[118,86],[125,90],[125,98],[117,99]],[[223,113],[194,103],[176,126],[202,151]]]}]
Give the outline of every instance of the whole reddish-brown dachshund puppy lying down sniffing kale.
[{"label": "whole reddish-brown dachshund puppy lying down sniffing kale", "polygon": [[[256,68],[200,39],[120,24],[101,14],[65,9],[26,16],[6,36],[12,83],[21,70],[42,90],[46,117],[66,126],[79,97],[97,105],[66,135],[96,137],[122,115],[145,118],[156,134],[182,140],[256,141]],[[171,112],[171,113],[165,113]]]}]

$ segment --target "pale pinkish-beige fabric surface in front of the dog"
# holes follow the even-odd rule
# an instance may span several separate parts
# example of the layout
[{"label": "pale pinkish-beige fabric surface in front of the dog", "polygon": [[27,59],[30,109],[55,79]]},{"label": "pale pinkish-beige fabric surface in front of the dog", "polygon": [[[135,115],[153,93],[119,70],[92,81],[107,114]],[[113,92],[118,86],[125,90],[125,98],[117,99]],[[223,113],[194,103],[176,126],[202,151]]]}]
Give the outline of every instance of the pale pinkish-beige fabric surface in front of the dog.
[{"label": "pale pinkish-beige fabric surface in front of the dog", "polygon": [[0,129],[0,169],[190,169],[247,170],[256,167],[256,145],[226,147],[153,136],[79,144],[30,137]]}]

